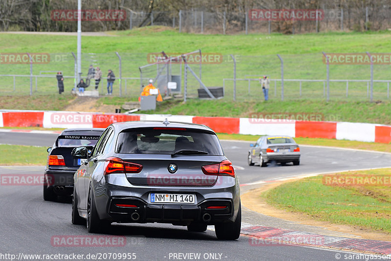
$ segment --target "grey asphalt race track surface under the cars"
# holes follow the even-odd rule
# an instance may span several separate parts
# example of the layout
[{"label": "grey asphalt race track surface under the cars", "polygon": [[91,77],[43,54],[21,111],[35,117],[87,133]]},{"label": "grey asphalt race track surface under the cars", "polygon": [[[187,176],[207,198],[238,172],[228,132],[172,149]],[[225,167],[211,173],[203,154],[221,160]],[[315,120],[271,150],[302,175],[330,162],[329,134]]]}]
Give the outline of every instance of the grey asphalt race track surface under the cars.
[{"label": "grey asphalt race track surface under the cars", "polygon": [[[51,146],[57,135],[0,133],[0,143]],[[227,157],[237,169],[241,184],[257,183],[308,173],[386,167],[391,165],[391,155],[364,151],[302,146],[300,166],[247,166],[249,142],[221,142]],[[45,147],[43,147],[45,149]],[[2,166],[0,174],[42,174],[42,166]],[[256,185],[253,185],[256,186]],[[242,191],[246,190],[243,186]],[[58,202],[45,202],[42,186],[0,187],[0,260],[10,260],[4,254],[87,254],[135,253],[136,260],[337,260],[337,252],[304,246],[254,246],[251,238],[239,237],[235,241],[217,240],[213,227],[204,233],[188,232],[185,227],[168,224],[113,224],[105,236],[125,236],[126,246],[80,247],[53,246],[56,236],[91,236],[85,226],[70,222],[71,204],[67,198]],[[243,222],[258,225],[255,213],[243,211]],[[250,218],[251,217],[251,218]],[[254,218],[255,217],[255,218]],[[198,253],[181,256],[179,253]],[[114,260],[112,256],[107,260]],[[52,260],[56,260],[53,257]],[[354,258],[353,258],[354,259]],[[20,260],[44,260],[21,258]],[[65,260],[64,257],[62,260]],[[99,259],[98,259],[99,260]],[[102,259],[103,260],[103,259]],[[130,260],[130,259],[116,259]],[[134,259],[133,259],[134,260]],[[357,260],[357,259],[355,259]],[[364,259],[361,259],[364,260]]]}]

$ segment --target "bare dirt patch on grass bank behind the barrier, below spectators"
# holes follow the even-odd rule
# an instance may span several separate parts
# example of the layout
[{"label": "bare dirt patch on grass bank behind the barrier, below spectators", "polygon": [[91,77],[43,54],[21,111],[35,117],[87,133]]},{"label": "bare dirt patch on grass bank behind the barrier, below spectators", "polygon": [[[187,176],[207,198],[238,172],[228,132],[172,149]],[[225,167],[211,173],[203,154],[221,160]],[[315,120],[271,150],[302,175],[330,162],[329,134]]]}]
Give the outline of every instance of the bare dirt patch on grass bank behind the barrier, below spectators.
[{"label": "bare dirt patch on grass bank behind the barrier, below spectators", "polygon": [[120,108],[118,105],[97,105],[98,99],[94,97],[77,97],[64,108],[64,111],[115,113],[115,109]]}]

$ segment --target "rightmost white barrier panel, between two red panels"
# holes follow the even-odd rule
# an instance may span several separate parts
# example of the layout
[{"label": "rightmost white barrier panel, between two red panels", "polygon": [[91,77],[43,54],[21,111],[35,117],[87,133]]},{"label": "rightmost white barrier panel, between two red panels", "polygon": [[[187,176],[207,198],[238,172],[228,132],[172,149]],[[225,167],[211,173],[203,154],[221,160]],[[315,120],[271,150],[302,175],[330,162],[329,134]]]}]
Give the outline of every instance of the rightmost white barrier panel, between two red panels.
[{"label": "rightmost white barrier panel, between two red panels", "polygon": [[375,124],[337,122],[337,140],[375,142]]}]

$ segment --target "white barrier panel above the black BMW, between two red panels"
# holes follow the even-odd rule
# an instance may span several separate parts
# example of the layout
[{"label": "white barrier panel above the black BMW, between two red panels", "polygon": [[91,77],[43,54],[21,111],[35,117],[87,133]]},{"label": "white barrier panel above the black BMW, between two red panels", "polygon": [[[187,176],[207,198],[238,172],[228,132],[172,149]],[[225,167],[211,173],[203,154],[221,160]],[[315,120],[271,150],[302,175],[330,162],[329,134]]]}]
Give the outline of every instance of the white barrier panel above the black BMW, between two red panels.
[{"label": "white barrier panel above the black BMW, between two red panels", "polygon": [[43,128],[92,128],[92,113],[44,112]]}]

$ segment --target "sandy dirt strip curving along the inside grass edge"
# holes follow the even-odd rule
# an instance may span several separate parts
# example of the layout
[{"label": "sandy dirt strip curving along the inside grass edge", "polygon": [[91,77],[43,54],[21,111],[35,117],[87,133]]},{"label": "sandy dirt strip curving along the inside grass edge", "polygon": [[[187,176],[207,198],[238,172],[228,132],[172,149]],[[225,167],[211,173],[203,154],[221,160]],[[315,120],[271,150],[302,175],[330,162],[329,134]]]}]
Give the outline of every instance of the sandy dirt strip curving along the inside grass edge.
[{"label": "sandy dirt strip curving along the inside grass edge", "polygon": [[277,209],[269,204],[266,203],[266,200],[261,197],[261,193],[267,190],[271,190],[273,188],[276,188],[277,186],[280,186],[281,184],[285,182],[292,182],[294,180],[289,181],[282,181],[282,182],[274,182],[270,184],[266,184],[262,186],[259,189],[250,190],[247,193],[244,193],[240,196],[241,202],[243,206],[246,208],[265,214],[268,216],[273,216],[277,218],[281,218],[284,220],[294,221],[300,224],[304,225],[310,225],[310,226],[318,226],[318,227],[324,227],[330,231],[336,231],[346,234],[353,234],[356,236],[360,236],[365,239],[372,239],[372,240],[390,240],[390,235],[380,232],[374,232],[372,230],[369,230],[367,228],[361,228],[361,227],[353,227],[348,225],[341,225],[341,224],[333,224],[331,222],[327,221],[320,221],[316,219],[312,219],[307,214],[300,214],[300,213],[293,213],[289,211],[284,211],[281,209]]}]

